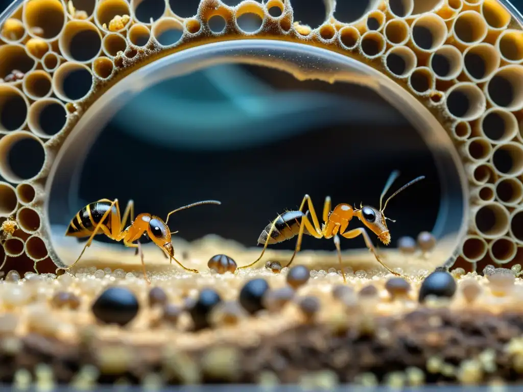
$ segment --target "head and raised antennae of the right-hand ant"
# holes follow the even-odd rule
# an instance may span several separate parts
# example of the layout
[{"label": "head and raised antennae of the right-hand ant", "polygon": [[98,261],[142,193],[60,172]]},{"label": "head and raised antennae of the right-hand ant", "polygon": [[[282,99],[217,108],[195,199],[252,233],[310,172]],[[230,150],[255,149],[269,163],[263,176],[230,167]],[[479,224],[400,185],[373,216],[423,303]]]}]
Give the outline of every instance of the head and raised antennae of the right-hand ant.
[{"label": "head and raised antennae of the right-hand ant", "polygon": [[385,201],[385,204],[383,204],[383,197],[384,197],[385,193],[387,193],[389,188],[392,186],[392,183],[399,175],[400,175],[400,172],[397,170],[394,170],[391,173],[391,175],[389,176],[389,179],[385,183],[385,186],[383,187],[383,191],[381,192],[379,210],[374,207],[368,206],[368,205],[363,206],[360,204],[360,209],[355,211],[355,214],[359,218],[359,220],[361,222],[363,222],[363,224],[365,226],[367,226],[370,230],[372,230],[372,232],[378,236],[378,238],[384,245],[389,245],[390,241],[391,241],[391,235],[389,233],[389,228],[387,227],[387,224],[385,221],[396,222],[385,216],[385,207],[387,206],[387,203],[396,194],[400,193],[405,188],[410,187],[411,185],[413,185],[413,183],[418,182],[419,180],[423,180],[425,178],[425,176],[419,176],[419,177],[415,178],[414,180],[407,182],[403,187],[401,187],[400,189],[395,191],[391,195],[391,197],[389,197]]}]

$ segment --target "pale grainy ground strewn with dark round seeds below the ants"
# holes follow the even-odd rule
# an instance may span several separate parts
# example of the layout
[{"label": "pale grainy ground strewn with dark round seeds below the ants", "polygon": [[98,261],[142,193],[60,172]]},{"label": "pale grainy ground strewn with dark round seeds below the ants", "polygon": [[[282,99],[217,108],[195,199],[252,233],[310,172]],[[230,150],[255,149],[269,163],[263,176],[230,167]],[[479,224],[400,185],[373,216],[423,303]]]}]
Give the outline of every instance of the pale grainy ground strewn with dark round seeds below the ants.
[{"label": "pale grainy ground strewn with dark round seeds below the ants", "polygon": [[[209,260],[214,251],[205,253]],[[366,260],[367,269],[347,268],[344,283],[323,256],[292,269],[272,263],[220,274],[196,254],[185,262],[199,274],[148,266],[150,284],[135,258],[125,269],[7,273],[0,381],[18,388],[523,381],[518,266],[434,275],[419,259],[394,278]]]}]

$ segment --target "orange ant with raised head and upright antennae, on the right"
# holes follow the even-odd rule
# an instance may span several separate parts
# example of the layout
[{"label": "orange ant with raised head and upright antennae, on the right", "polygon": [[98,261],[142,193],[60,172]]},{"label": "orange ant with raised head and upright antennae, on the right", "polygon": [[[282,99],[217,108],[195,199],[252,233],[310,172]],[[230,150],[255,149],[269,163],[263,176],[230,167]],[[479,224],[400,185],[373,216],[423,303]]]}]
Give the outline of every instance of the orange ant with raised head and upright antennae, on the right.
[{"label": "orange ant with raised head and upright antennae, on the right", "polygon": [[[288,239],[293,238],[294,236],[298,236],[298,240],[296,241],[296,247],[294,249],[294,253],[291,257],[291,260],[287,264],[287,267],[290,266],[292,261],[294,260],[294,257],[296,256],[296,253],[300,251],[301,248],[301,241],[303,234],[311,235],[315,238],[333,238],[334,237],[334,244],[336,246],[336,250],[338,253],[338,261],[340,266],[342,267],[342,275],[343,275],[343,281],[346,282],[345,278],[345,272],[343,271],[343,264],[342,264],[342,252],[340,250],[339,246],[339,237],[338,234],[345,237],[345,238],[356,238],[359,235],[363,236],[363,239],[365,239],[365,244],[367,245],[367,248],[373,253],[374,257],[376,257],[376,260],[385,267],[389,272],[393,273],[394,275],[400,275],[397,272],[392,271],[389,267],[387,267],[383,261],[381,261],[381,258],[378,256],[378,253],[376,252],[376,249],[372,245],[372,242],[370,240],[369,234],[367,233],[367,230],[365,227],[359,227],[352,230],[349,230],[346,232],[350,221],[354,216],[358,217],[358,219],[363,222],[367,228],[369,228],[374,234],[378,236],[378,238],[381,240],[381,242],[385,245],[389,245],[391,241],[391,236],[389,233],[389,229],[386,224],[386,220],[391,222],[392,219],[389,219],[388,217],[385,217],[384,211],[385,207],[387,206],[387,203],[398,193],[403,191],[405,188],[413,185],[415,182],[422,180],[425,178],[425,176],[420,176],[415,178],[414,180],[406,183],[403,187],[401,187],[399,190],[394,192],[392,196],[385,201],[385,204],[382,208],[382,202],[383,197],[385,193],[389,190],[389,188],[392,186],[392,183],[396,180],[396,178],[400,175],[400,172],[397,170],[394,170],[391,175],[389,176],[389,179],[385,183],[385,187],[383,188],[383,191],[381,192],[380,197],[380,209],[376,209],[374,207],[371,207],[369,205],[363,206],[360,203],[360,208],[357,209],[356,207],[353,207],[349,204],[338,204],[334,208],[334,210],[331,211],[331,198],[327,196],[325,198],[325,203],[323,205],[323,221],[324,224],[320,227],[320,223],[318,222],[318,218],[316,217],[316,212],[314,211],[314,206],[312,204],[311,197],[306,194],[303,198],[303,201],[301,202],[300,208],[298,211],[286,211],[283,214],[278,215],[278,217],[272,221],[270,224],[268,224],[263,232],[261,232],[259,238],[258,238],[258,245],[265,243],[263,250],[261,251],[260,257],[258,257],[254,262],[251,264],[248,264],[247,266],[239,267],[238,269],[243,268],[249,268],[254,266],[261,257],[263,257],[265,250],[267,249],[267,246],[269,244],[278,244],[282,241],[286,241]],[[309,210],[306,213],[303,213],[303,207],[305,206],[305,202],[308,203]],[[311,213],[312,223],[309,220],[309,212]]]}]

